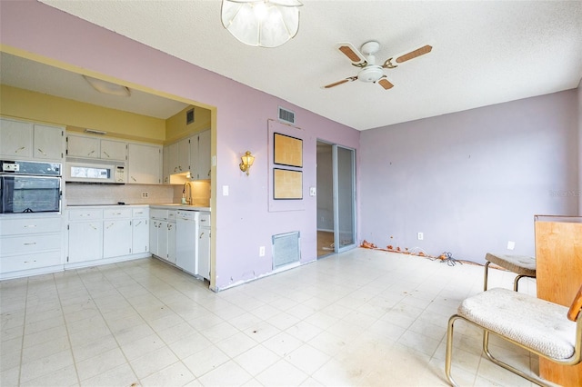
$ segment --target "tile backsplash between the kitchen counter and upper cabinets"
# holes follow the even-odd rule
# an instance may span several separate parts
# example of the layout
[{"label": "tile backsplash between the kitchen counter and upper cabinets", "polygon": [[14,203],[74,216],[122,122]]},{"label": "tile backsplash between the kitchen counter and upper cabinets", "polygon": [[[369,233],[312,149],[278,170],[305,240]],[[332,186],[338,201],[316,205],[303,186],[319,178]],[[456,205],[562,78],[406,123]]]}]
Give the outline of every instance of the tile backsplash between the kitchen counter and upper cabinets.
[{"label": "tile backsplash between the kitchen counter and upper cabinets", "polygon": [[[210,206],[210,183],[186,183],[192,203]],[[180,203],[185,185],[76,184],[66,183],[65,204],[156,204]]]}]

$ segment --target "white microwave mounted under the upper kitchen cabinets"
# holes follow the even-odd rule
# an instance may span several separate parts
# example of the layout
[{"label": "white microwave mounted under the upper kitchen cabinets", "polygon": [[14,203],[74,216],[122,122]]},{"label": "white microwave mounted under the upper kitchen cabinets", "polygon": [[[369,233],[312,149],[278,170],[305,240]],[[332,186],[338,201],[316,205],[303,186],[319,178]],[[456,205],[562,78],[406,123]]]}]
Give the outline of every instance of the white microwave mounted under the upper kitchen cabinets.
[{"label": "white microwave mounted under the upper kitchen cabinets", "polygon": [[66,162],[65,182],[125,184],[125,163]]}]

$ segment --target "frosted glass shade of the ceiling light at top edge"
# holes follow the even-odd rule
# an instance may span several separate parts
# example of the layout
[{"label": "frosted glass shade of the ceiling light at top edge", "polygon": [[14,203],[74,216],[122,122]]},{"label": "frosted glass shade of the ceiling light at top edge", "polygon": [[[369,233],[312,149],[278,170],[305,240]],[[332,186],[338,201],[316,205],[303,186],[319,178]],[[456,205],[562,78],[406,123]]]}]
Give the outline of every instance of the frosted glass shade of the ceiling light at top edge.
[{"label": "frosted glass shade of the ceiling light at top edge", "polygon": [[223,0],[222,25],[245,45],[276,47],[299,30],[297,0]]}]

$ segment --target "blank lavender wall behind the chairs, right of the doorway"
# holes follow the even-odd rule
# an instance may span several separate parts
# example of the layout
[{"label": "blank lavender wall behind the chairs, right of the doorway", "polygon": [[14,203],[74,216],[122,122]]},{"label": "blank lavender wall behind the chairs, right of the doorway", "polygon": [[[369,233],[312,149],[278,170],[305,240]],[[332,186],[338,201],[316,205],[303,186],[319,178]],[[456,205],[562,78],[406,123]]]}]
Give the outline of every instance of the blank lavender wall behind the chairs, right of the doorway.
[{"label": "blank lavender wall behind the chairs, right of the doorway", "polygon": [[[576,214],[577,91],[361,135],[361,238],[385,247],[533,255],[535,214]],[[416,240],[416,233],[424,240]]]}]

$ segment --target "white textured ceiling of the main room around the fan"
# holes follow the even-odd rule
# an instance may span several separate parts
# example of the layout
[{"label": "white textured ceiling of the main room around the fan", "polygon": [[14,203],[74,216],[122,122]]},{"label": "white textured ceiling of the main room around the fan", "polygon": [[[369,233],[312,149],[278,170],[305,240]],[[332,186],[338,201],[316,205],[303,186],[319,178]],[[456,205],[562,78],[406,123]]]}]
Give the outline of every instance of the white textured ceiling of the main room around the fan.
[{"label": "white textured ceiling of the main room around the fan", "polygon": [[[299,33],[271,49],[229,35],[219,0],[42,2],[358,130],[567,90],[582,76],[580,1],[304,0]],[[434,48],[385,70],[388,91],[321,88],[357,73],[334,46],[369,40],[382,62]]]}]

